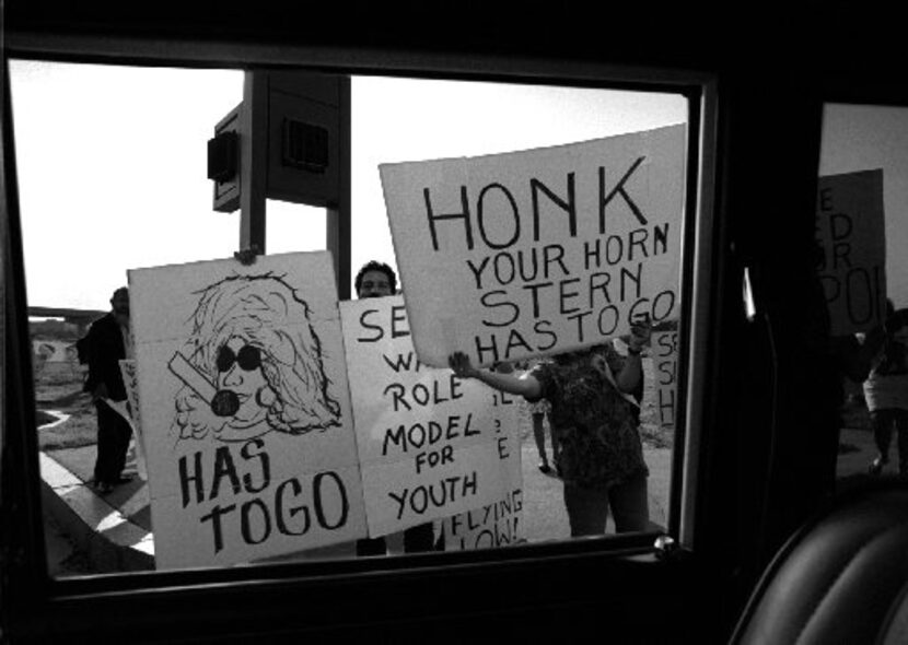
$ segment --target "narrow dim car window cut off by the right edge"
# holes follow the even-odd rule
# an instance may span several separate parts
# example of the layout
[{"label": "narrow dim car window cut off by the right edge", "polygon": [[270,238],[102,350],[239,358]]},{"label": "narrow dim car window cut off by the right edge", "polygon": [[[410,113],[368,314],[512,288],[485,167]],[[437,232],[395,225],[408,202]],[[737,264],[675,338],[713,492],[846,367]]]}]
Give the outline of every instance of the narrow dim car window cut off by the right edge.
[{"label": "narrow dim car window cut off by the right edge", "polygon": [[826,260],[820,275],[834,340],[843,342],[845,330],[851,354],[860,359],[841,378],[839,486],[897,476],[908,466],[901,349],[908,307],[903,251],[908,242],[903,207],[907,125],[904,107],[827,104],[824,109],[817,228]]}]

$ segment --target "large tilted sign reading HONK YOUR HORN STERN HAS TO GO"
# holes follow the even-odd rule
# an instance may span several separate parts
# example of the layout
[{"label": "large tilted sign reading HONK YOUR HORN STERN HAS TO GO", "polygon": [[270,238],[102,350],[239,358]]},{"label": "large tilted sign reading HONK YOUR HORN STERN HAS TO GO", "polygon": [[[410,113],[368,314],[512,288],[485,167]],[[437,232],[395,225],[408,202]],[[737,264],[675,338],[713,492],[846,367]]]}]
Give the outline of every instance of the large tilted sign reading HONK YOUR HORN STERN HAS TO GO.
[{"label": "large tilted sign reading HONK YOUR HORN STERN HAS TO GO", "polygon": [[380,166],[419,357],[490,365],[676,315],[685,137]]}]

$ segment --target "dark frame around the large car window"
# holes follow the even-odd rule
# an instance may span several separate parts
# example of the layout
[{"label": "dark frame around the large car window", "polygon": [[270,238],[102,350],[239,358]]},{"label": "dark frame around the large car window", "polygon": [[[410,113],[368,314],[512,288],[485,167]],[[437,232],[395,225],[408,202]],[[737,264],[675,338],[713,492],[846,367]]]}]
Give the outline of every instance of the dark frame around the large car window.
[{"label": "dark frame around the large car window", "polygon": [[[712,352],[695,352],[694,348],[712,347],[719,342],[707,337],[708,329],[717,316],[715,295],[709,289],[714,279],[713,244],[714,219],[713,196],[715,191],[714,159],[717,154],[717,83],[712,73],[674,69],[638,69],[605,66],[598,62],[571,62],[481,56],[451,57],[449,55],[415,56],[412,52],[388,52],[369,50],[327,50],[305,47],[275,48],[268,45],[247,43],[224,45],[209,43],[136,42],[130,38],[101,38],[96,35],[66,35],[55,37],[42,34],[10,34],[4,49],[7,58],[33,58],[68,62],[107,62],[136,66],[179,66],[205,68],[246,68],[251,64],[286,68],[300,63],[306,69],[342,72],[353,75],[405,75],[409,78],[445,78],[452,80],[479,80],[489,82],[526,82],[559,84],[578,87],[602,87],[616,90],[670,91],[682,93],[688,98],[688,167],[685,222],[683,243],[684,268],[682,275],[683,314],[679,335],[679,383],[680,397],[677,434],[673,455],[668,537],[671,542],[684,549],[692,549],[696,538],[696,507],[698,491],[701,431],[707,423],[705,394],[708,387],[701,376],[710,371],[708,361],[714,360]],[[482,64],[477,64],[482,62]],[[493,71],[489,71],[489,70]],[[4,78],[5,107],[9,109],[9,81]],[[4,173],[14,177],[14,148],[9,118],[4,117]],[[5,273],[12,278],[7,293],[7,303],[15,322],[9,325],[8,333],[8,378],[31,374],[30,356],[22,347],[23,330],[27,331],[26,300],[22,272],[22,245],[18,230],[18,203],[15,187],[8,181],[9,225],[7,239],[10,241],[9,260],[11,269]],[[9,315],[8,309],[8,315]],[[11,343],[11,344],[10,344]],[[11,347],[12,345],[12,347]],[[27,380],[27,379],[21,379]],[[30,407],[31,403],[31,407]],[[28,383],[20,383],[14,396],[5,400],[8,410],[4,433],[9,441],[3,449],[18,454],[22,459],[22,476],[25,478],[24,495],[14,503],[22,505],[21,513],[27,517],[18,537],[12,541],[21,551],[13,553],[13,577],[25,583],[23,599],[42,606],[58,607],[71,605],[80,596],[117,594],[126,596],[155,597],[172,589],[209,588],[221,585],[265,585],[282,588],[287,585],[303,585],[314,589],[327,584],[349,584],[358,576],[394,575],[401,579],[419,579],[426,572],[442,575],[454,572],[469,572],[476,567],[492,567],[507,572],[512,566],[550,568],[554,563],[564,560],[581,562],[584,559],[607,556],[627,559],[631,568],[641,566],[643,558],[650,564],[662,559],[662,551],[655,549],[653,535],[608,536],[591,540],[570,540],[558,543],[528,544],[515,549],[484,552],[431,553],[405,558],[380,560],[330,561],[324,563],[281,563],[256,565],[254,567],[231,567],[226,570],[193,570],[181,572],[150,572],[117,574],[115,576],[89,576],[84,578],[51,579],[47,574],[40,524],[42,506],[38,490],[36,438],[25,431],[34,427],[34,391]],[[31,433],[34,435],[34,433]],[[0,491],[7,494],[5,491]],[[38,573],[37,582],[28,584],[23,572]],[[463,573],[463,575],[470,575]],[[639,575],[639,574],[638,574]],[[333,580],[333,582],[331,582]],[[125,597],[125,596],[124,596]],[[19,603],[16,603],[19,605]],[[75,603],[78,605],[78,602]]]}]

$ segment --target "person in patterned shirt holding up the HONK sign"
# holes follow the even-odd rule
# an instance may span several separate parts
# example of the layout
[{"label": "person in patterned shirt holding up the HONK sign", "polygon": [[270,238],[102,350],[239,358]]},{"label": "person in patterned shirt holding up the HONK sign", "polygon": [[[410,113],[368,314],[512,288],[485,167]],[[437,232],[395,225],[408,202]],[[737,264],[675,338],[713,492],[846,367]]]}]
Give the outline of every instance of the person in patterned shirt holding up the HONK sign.
[{"label": "person in patterned shirt holding up the HONK sign", "polygon": [[650,333],[649,320],[631,325],[627,357],[608,343],[556,355],[520,376],[476,368],[463,352],[449,357],[459,377],[478,378],[531,402],[548,399],[571,537],[605,532],[609,507],[618,532],[650,526],[649,470],[638,432],[640,353]]}]

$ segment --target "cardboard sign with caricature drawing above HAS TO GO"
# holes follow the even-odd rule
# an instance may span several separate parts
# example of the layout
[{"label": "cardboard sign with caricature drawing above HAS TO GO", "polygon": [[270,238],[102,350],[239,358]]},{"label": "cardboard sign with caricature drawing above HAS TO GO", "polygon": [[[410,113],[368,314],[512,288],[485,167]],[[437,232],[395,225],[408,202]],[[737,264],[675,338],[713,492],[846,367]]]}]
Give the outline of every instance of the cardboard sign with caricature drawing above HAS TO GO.
[{"label": "cardboard sign with caricature drawing above HAS TO GO", "polygon": [[159,568],[365,536],[330,255],[129,271]]}]

